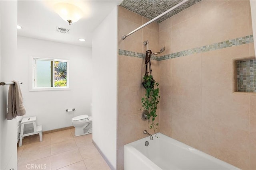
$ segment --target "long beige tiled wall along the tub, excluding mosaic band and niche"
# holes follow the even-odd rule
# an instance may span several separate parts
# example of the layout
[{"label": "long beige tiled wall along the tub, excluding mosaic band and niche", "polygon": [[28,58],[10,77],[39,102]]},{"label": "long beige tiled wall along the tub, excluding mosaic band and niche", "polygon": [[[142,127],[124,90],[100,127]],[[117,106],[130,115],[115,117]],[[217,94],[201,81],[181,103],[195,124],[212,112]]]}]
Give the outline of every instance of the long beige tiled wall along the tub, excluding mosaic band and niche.
[{"label": "long beige tiled wall along the tub, excluding mosaic band and niche", "polygon": [[[201,1],[159,24],[159,47],[170,54],[252,35],[250,21],[249,1]],[[253,43],[160,61],[160,132],[255,170],[256,96],[232,89],[233,59],[250,56]]]}]

